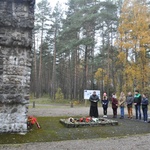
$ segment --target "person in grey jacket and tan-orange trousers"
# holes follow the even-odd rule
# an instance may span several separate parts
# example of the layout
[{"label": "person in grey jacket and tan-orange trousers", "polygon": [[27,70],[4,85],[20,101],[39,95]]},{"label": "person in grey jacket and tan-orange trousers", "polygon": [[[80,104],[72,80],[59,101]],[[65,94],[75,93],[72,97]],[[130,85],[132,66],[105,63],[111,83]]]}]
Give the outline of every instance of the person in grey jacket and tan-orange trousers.
[{"label": "person in grey jacket and tan-orange trousers", "polygon": [[132,119],[133,112],[132,112],[132,104],[133,104],[133,96],[132,93],[129,92],[126,98],[127,110],[128,110],[128,118]]}]

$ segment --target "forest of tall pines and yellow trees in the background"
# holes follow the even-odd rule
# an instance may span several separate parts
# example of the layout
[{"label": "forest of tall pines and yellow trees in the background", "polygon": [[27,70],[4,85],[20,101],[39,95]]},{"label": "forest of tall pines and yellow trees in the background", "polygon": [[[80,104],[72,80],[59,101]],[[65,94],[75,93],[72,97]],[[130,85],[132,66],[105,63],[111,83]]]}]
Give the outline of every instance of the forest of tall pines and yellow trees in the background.
[{"label": "forest of tall pines and yellow trees in the background", "polygon": [[83,91],[150,93],[150,2],[68,0],[35,8],[31,93],[82,100]]}]

